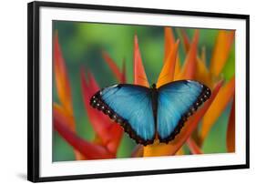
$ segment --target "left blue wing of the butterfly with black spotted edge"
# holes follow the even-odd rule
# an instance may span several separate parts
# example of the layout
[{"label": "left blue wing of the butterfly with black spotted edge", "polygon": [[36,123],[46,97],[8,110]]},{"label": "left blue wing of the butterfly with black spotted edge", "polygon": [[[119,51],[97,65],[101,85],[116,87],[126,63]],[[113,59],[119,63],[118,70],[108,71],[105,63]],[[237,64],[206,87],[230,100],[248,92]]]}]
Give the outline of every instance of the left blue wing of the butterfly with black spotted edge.
[{"label": "left blue wing of the butterfly with black spotted edge", "polygon": [[149,88],[128,84],[106,87],[90,104],[122,125],[138,143],[153,143],[156,131]]}]

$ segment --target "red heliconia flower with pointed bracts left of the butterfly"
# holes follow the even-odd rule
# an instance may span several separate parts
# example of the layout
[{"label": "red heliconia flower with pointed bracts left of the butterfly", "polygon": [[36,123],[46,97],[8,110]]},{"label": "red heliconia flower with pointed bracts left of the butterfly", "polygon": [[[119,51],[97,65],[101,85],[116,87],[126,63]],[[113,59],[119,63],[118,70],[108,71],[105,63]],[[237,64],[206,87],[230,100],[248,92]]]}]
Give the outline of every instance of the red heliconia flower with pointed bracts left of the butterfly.
[{"label": "red heliconia flower with pointed bracts left of the butterfly", "polygon": [[[114,62],[108,63],[112,70],[116,67]],[[67,67],[58,43],[57,33],[54,36],[54,66],[57,97],[60,101],[60,104],[54,103],[53,105],[55,130],[74,148],[76,159],[116,158],[123,130],[118,124],[112,123],[110,119],[89,107],[89,98],[99,88],[94,77],[89,72],[86,77],[84,71],[81,71],[82,95],[88,118],[96,131],[96,138],[93,142],[89,142],[77,136]],[[119,80],[125,82],[125,73],[119,72],[117,68],[115,71],[119,75]]]}]

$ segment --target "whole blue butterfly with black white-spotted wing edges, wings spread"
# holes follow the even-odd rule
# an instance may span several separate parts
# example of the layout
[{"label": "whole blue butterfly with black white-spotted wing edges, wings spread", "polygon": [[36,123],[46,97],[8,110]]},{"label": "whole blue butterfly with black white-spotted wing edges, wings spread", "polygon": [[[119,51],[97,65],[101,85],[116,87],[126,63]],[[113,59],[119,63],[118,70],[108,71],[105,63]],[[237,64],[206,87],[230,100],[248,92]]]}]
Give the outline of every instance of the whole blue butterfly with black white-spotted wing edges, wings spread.
[{"label": "whole blue butterfly with black white-spotted wing edges, wings spread", "polygon": [[130,138],[147,146],[156,138],[168,143],[210,97],[210,88],[193,80],[178,80],[159,88],[118,84],[102,88],[90,105],[120,124]]}]

